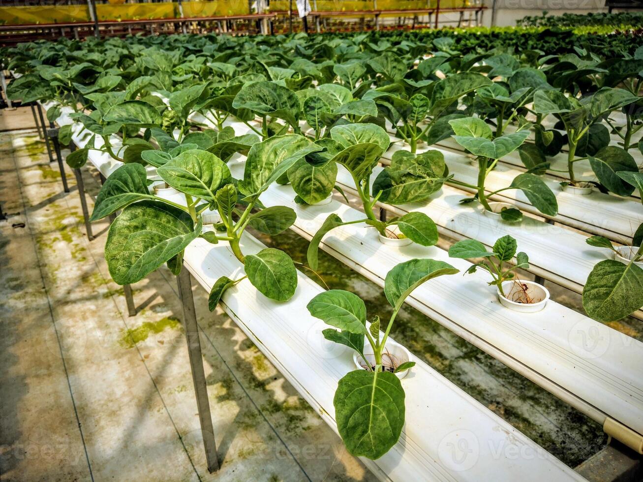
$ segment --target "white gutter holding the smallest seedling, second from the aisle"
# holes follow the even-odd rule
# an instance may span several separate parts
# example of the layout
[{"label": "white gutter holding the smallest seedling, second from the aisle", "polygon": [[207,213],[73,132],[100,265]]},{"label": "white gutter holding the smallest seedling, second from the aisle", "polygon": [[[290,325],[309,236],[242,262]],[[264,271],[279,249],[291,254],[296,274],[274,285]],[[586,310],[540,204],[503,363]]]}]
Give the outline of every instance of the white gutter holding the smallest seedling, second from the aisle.
[{"label": "white gutter holding the smallest seedling, second from the aisle", "polygon": [[[238,178],[244,158],[235,158],[228,165]],[[302,207],[290,186],[271,186],[262,202],[293,208],[295,231],[308,239],[331,213],[344,221],[364,219],[361,211],[339,201]],[[333,229],[320,247],[378,285],[410,258],[443,260],[461,272],[471,266],[435,246],[383,245],[366,224]],[[552,300],[537,313],[507,310],[487,281],[482,271],[444,276],[416,289],[407,302],[597,422],[604,424],[609,416],[643,434],[643,343]]]}]

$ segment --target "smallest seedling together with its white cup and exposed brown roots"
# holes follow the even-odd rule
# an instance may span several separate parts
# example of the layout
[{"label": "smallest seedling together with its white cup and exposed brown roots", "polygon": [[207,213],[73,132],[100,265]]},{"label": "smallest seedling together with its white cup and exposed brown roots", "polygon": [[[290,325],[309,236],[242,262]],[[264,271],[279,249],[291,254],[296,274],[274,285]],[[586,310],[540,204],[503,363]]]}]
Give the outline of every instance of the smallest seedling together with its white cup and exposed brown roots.
[{"label": "smallest seedling together with its white cup and exposed brown roots", "polygon": [[[529,268],[529,256],[522,251],[516,253],[517,249],[518,243],[509,235],[496,240],[493,251],[487,251],[480,241],[466,239],[451,245],[449,256],[465,260],[484,258],[471,265],[466,273],[474,273],[478,268],[484,269],[491,275],[492,280],[489,281],[489,285],[497,287],[498,299],[503,306],[523,312],[538,311],[547,303],[549,293],[538,283],[518,279],[515,271],[519,268]],[[516,258],[514,265],[509,265],[508,263],[514,258]],[[533,308],[538,309],[529,309],[520,305],[532,305]]]}]

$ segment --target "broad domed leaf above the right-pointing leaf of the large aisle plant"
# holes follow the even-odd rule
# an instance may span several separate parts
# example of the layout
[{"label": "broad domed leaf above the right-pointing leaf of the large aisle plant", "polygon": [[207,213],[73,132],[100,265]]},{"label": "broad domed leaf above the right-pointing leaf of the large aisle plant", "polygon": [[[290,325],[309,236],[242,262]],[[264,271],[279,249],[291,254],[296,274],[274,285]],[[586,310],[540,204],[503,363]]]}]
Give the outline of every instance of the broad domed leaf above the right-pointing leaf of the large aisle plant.
[{"label": "broad domed leaf above the right-pointing leaf of the large aisle plant", "polygon": [[293,91],[275,82],[253,82],[242,87],[232,102],[235,109],[249,109],[262,116],[285,120],[298,127],[300,105]]}]

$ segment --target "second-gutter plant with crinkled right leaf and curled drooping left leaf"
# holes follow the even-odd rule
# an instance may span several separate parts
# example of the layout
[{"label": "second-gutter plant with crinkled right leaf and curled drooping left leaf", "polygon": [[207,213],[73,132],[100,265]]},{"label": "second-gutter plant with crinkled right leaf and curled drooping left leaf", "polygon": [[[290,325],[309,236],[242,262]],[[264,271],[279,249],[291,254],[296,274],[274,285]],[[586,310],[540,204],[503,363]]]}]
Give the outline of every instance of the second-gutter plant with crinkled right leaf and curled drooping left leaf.
[{"label": "second-gutter plant with crinkled right leaf and curled drooping left leaf", "polygon": [[[377,229],[377,232],[383,237],[396,236],[400,238],[391,229],[392,226],[397,226],[404,237],[408,237],[417,244],[431,246],[437,243],[437,226],[424,213],[412,212],[402,217],[382,221],[374,212],[377,201],[383,199],[383,195],[383,200],[388,196],[392,199],[394,197],[401,198],[405,195],[402,192],[405,189],[408,195],[412,195],[411,192],[414,189],[414,184],[410,182],[412,180],[417,181],[415,186],[420,184],[422,187],[430,189],[430,192],[439,190],[442,185],[439,181],[442,179],[442,174],[434,174],[429,161],[426,161],[425,165],[421,165],[419,162],[415,162],[415,156],[413,156],[413,159],[407,159],[408,166],[406,167],[408,169],[403,166],[396,166],[393,170],[383,172],[381,179],[378,176],[379,181],[376,179],[376,183],[374,183],[378,191],[371,194],[370,177],[377,165],[377,161],[388,148],[389,142],[386,131],[374,124],[338,125],[331,129],[330,139],[316,141],[318,146],[327,149],[327,162],[340,164],[349,172],[362,202],[366,218],[344,222],[336,214],[331,214],[327,217],[321,228],[312,237],[308,247],[307,258],[311,269],[317,269],[318,249],[321,239],[331,229],[348,224],[366,223],[368,226]],[[403,175],[401,171],[408,175]],[[422,182],[424,180],[430,182],[424,183]]]}]

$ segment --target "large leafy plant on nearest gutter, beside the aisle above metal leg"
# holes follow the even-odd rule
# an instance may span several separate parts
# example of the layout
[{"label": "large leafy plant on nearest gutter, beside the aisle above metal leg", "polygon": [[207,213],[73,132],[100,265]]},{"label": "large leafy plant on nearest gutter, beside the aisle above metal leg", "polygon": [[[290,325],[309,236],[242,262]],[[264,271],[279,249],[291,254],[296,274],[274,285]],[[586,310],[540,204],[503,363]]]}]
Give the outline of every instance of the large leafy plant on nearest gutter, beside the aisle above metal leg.
[{"label": "large leafy plant on nearest gutter, beside the aisle above metal leg", "polygon": [[[198,149],[180,152],[159,166],[157,173],[168,186],[185,195],[185,204],[150,193],[145,168],[140,164],[121,166],[102,187],[91,217],[96,220],[122,210],[111,224],[105,244],[105,258],[114,281],[134,283],[163,263],[176,274],[185,247],[202,237],[213,244],[228,242],[244,263],[249,281],[262,294],[278,301],[291,298],[297,285],[293,260],[273,248],[244,255],[240,241],[248,226],[276,235],[293,224],[296,215],[291,208],[261,209],[259,197],[298,159],[318,149],[295,134],[255,143],[248,153],[244,178],[238,182],[214,154]],[[206,211],[219,213],[220,221],[212,231],[203,230]],[[244,278],[217,281],[210,296],[211,307],[225,289]]]}]

